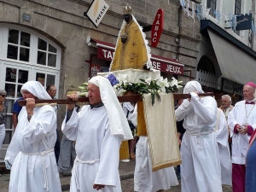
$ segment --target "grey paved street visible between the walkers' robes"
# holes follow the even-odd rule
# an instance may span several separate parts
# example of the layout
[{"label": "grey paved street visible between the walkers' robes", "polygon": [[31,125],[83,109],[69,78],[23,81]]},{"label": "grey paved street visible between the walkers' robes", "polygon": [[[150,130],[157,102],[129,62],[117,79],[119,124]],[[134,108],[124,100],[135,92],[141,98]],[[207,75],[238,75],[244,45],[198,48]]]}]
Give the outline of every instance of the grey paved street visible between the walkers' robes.
[{"label": "grey paved street visible between the walkers' robes", "polygon": [[[129,163],[119,162],[119,175],[121,179],[122,185],[122,192],[134,192],[133,186],[133,176],[134,176],[134,168],[135,168],[135,160],[131,160]],[[0,177],[0,191],[1,192],[8,192],[9,189],[9,171],[1,170],[0,166],[0,173],[2,177]],[[61,188],[62,191],[68,192],[69,191],[69,183],[70,183],[70,176],[68,177],[61,177]],[[180,192],[180,180],[177,186],[173,186],[171,189],[166,190],[165,192]],[[223,185],[223,192],[232,192],[232,188],[228,185]]]}]

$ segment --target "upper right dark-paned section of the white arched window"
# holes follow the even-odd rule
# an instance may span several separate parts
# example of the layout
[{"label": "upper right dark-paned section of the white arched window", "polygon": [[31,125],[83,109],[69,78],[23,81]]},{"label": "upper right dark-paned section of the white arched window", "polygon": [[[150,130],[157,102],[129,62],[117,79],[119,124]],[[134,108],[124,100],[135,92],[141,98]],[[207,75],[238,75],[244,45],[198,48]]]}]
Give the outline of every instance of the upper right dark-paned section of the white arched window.
[{"label": "upper right dark-paned section of the white arched window", "polygon": [[56,67],[56,61],[57,49],[43,39],[38,38],[38,64]]}]

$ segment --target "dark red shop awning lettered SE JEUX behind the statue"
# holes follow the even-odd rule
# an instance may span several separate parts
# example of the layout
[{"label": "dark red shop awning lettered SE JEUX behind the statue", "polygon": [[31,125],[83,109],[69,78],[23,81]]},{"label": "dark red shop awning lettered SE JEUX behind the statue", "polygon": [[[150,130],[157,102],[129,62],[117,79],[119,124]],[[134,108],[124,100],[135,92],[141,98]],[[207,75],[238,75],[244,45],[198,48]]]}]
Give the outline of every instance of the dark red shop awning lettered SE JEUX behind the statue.
[{"label": "dark red shop awning lettered SE JEUX behind the statue", "polygon": [[[112,61],[115,45],[109,44],[90,38],[90,42],[96,43],[97,57],[102,60]],[[151,55],[152,66],[154,69],[160,70],[163,73],[183,74],[184,65],[176,60],[172,60],[166,57]]]}]

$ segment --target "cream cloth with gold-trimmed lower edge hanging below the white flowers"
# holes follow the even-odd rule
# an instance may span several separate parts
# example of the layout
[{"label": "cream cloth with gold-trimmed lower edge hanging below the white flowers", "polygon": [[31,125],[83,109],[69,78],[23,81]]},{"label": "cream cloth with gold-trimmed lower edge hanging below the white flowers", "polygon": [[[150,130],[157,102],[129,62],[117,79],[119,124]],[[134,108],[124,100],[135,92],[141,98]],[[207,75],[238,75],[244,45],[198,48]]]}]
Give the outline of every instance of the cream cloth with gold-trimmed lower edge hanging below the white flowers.
[{"label": "cream cloth with gold-trimmed lower edge hanging below the white flowers", "polygon": [[153,172],[181,164],[174,113],[174,98],[160,93],[152,106],[151,95],[143,95],[144,118],[148,132]]}]

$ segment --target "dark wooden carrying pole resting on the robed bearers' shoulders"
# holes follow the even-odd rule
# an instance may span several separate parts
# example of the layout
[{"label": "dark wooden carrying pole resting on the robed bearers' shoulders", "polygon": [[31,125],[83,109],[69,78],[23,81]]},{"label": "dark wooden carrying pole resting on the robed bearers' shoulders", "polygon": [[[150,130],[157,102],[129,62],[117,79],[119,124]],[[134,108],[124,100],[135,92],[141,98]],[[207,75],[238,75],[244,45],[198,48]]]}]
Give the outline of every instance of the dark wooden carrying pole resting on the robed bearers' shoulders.
[{"label": "dark wooden carrying pole resting on the robed bearers' shoulders", "polygon": [[[173,94],[174,99],[187,99],[191,98],[190,94]],[[209,93],[201,93],[199,96],[213,96],[212,92]],[[118,96],[119,102],[143,102],[143,97],[138,94],[129,93],[125,94],[124,96]],[[75,104],[76,102],[73,102],[73,100],[67,98],[67,99],[50,99],[50,100],[35,100],[36,104],[38,103],[57,103],[57,104]],[[86,96],[79,97],[79,100],[77,102],[89,102],[89,98]],[[26,106],[26,100],[18,101],[19,106]]]}]

